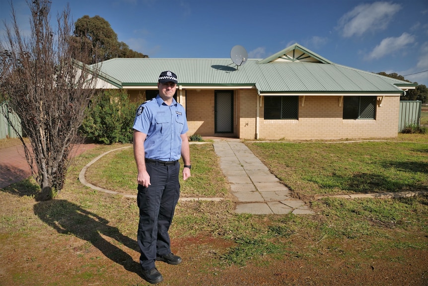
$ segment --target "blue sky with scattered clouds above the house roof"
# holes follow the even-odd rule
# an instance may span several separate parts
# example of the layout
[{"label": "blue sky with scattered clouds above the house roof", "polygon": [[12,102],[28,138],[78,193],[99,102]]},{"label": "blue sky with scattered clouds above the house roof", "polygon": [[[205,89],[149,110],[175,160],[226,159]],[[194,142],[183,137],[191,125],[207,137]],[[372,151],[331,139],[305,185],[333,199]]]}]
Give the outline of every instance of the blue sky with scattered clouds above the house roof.
[{"label": "blue sky with scattered clouds above the house roof", "polygon": [[[25,0],[12,0],[29,31]],[[9,0],[0,0],[10,22]],[[52,0],[52,23],[68,1]],[[150,58],[229,58],[242,45],[266,58],[298,43],[337,64],[397,73],[428,86],[428,0],[71,0],[73,21],[106,19],[118,40]]]}]

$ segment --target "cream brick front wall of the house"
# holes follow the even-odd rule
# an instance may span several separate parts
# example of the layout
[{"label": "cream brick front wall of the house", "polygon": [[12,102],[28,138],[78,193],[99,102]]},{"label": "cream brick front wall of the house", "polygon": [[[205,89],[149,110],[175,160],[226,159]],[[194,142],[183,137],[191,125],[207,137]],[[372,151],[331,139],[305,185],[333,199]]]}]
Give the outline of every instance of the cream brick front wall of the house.
[{"label": "cream brick front wall of the house", "polygon": [[[141,97],[135,91],[130,97]],[[255,139],[257,125],[257,92],[238,90],[234,95],[234,134],[241,139]],[[359,139],[397,137],[399,96],[385,96],[382,106],[376,105],[376,120],[342,119],[339,96],[306,96],[304,106],[299,97],[299,118],[296,120],[264,120],[264,100],[259,109],[259,139]],[[378,100],[380,97],[378,97]],[[214,136],[214,90],[183,91],[183,102],[189,125],[188,135]]]}]

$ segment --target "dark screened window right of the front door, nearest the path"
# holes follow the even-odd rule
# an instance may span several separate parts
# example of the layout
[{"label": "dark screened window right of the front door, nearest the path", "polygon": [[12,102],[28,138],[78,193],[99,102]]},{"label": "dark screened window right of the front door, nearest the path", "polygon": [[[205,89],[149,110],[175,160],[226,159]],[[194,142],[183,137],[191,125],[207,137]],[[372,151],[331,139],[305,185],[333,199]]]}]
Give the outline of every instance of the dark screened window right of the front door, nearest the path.
[{"label": "dark screened window right of the front door, nearest the path", "polygon": [[298,119],[298,96],[265,96],[265,119]]}]

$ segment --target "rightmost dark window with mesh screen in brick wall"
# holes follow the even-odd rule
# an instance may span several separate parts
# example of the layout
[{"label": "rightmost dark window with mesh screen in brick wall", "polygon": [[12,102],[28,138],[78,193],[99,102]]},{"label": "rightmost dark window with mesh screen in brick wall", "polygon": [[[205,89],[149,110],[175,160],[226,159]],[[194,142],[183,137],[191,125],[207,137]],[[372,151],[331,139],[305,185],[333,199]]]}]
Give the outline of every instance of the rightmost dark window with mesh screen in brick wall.
[{"label": "rightmost dark window with mesh screen in brick wall", "polygon": [[376,96],[345,96],[343,119],[375,119]]}]

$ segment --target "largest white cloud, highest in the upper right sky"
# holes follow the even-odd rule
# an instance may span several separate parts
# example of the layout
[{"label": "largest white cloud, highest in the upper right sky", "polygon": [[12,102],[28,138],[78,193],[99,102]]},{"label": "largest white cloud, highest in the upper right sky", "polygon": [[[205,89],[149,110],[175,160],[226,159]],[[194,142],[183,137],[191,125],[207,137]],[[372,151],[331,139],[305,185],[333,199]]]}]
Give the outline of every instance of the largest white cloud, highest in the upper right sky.
[{"label": "largest white cloud, highest in the upper right sky", "polygon": [[344,37],[384,30],[400,9],[400,4],[390,2],[360,4],[339,19],[338,28],[342,30]]}]

